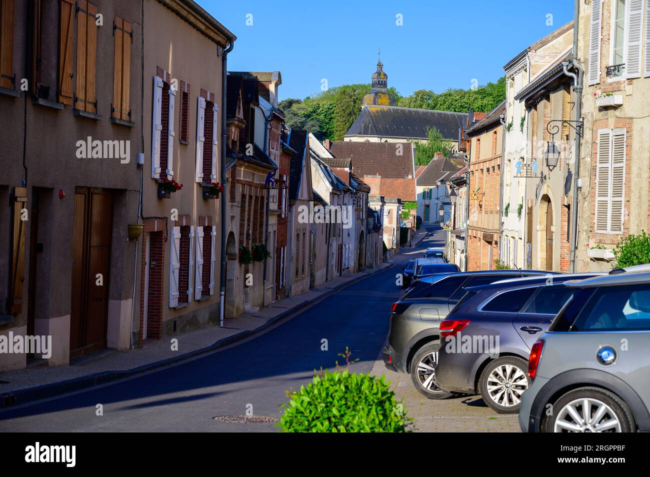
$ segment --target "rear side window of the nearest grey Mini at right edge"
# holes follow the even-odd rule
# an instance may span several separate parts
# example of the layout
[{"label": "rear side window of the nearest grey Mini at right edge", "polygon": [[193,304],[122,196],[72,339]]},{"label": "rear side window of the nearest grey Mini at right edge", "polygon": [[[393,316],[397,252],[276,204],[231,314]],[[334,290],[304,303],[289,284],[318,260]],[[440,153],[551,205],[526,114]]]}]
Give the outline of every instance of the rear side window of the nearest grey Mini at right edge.
[{"label": "rear side window of the nearest grey Mini at right edge", "polygon": [[576,318],[571,331],[650,330],[650,284],[602,287]]}]

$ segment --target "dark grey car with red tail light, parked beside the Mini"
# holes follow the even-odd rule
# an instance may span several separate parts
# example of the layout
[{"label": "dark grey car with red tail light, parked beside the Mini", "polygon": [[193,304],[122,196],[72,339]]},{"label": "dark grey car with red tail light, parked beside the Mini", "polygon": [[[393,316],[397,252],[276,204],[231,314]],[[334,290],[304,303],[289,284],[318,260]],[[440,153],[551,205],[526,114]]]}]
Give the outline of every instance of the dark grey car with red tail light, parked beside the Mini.
[{"label": "dark grey car with red tail light, parked beside the Mini", "polygon": [[530,348],[572,294],[564,283],[595,275],[525,277],[467,288],[440,324],[437,385],[480,394],[497,413],[517,413],[528,389]]}]

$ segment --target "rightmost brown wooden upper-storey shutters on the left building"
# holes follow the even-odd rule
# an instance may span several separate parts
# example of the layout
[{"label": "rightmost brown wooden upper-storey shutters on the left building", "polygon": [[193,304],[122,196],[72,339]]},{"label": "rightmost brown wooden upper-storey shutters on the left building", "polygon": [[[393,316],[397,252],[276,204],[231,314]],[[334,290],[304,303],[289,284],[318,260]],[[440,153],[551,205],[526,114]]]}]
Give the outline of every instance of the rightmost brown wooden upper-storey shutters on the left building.
[{"label": "rightmost brown wooden upper-storey shutters on the left building", "polygon": [[131,44],[133,27],[118,16],[113,21],[113,102],[110,117],[133,122],[131,116]]}]

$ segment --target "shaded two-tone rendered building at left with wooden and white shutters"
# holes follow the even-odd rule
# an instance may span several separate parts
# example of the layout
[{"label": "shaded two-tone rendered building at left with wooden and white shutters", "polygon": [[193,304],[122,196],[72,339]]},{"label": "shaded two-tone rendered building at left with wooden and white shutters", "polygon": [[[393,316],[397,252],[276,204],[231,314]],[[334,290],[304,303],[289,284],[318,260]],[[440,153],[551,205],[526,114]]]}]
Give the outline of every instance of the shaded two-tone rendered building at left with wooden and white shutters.
[{"label": "shaded two-tone rendered building at left with wooden and white shutters", "polygon": [[2,354],[0,370],[216,322],[220,218],[203,186],[220,181],[235,37],[193,1],[1,6],[0,333],[53,349]]}]

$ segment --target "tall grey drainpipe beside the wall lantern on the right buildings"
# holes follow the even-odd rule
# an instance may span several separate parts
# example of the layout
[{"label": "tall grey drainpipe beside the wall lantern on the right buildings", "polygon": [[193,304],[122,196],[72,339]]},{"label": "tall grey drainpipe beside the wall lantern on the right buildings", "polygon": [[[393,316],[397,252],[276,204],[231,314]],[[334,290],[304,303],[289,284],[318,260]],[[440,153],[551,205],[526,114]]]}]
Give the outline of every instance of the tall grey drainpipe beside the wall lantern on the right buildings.
[{"label": "tall grey drainpipe beside the wall lantern on the right buildings", "polygon": [[[576,77],[575,73],[568,71],[569,62],[563,62],[562,68],[564,68],[564,73],[573,78],[573,91],[575,92],[575,120],[580,121],[582,118],[582,88],[583,86],[583,75],[584,70],[582,66],[578,63],[577,54],[578,54],[578,21],[580,21],[580,3],[579,0],[574,2],[574,12],[573,12],[573,54],[571,55],[571,66],[578,71]],[[569,272],[575,272],[575,250],[578,246],[578,178],[580,177],[580,139],[582,138],[582,125],[577,123],[577,132],[575,135],[575,162],[574,162],[574,172],[573,174],[573,200],[571,200],[571,255],[569,259]]]}]

